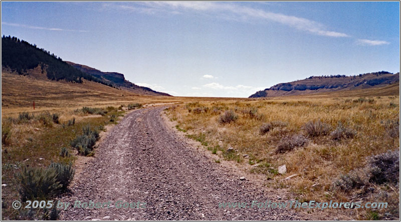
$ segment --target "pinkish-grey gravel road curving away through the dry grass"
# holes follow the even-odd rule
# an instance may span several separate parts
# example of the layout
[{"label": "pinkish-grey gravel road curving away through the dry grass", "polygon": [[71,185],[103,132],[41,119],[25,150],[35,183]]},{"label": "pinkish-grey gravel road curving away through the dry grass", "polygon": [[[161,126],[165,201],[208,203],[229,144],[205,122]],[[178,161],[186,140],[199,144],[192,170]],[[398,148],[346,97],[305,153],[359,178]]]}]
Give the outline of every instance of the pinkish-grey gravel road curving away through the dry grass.
[{"label": "pinkish-grey gravel road curving away through the dry grass", "polygon": [[[162,110],[135,110],[110,131],[71,195],[61,199],[71,203],[61,210],[61,219],[301,219],[288,209],[219,208],[219,202],[264,202],[275,196],[178,139],[163,123]],[[75,200],[111,204],[74,208]],[[146,202],[146,208],[117,208],[118,200]]]}]

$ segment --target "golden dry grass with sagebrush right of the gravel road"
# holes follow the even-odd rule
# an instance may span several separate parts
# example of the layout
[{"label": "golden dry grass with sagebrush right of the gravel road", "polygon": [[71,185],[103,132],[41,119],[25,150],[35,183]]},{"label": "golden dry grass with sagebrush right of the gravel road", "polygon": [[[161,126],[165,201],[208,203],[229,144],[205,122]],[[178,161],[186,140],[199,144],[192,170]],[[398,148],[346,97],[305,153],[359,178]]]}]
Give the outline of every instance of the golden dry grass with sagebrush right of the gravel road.
[{"label": "golden dry grass with sagebrush right of the gravel road", "polygon": [[267,186],[289,188],[301,201],[389,204],[342,209],[348,219],[399,218],[399,97],[333,95],[186,103],[166,112],[222,159],[264,173]]}]

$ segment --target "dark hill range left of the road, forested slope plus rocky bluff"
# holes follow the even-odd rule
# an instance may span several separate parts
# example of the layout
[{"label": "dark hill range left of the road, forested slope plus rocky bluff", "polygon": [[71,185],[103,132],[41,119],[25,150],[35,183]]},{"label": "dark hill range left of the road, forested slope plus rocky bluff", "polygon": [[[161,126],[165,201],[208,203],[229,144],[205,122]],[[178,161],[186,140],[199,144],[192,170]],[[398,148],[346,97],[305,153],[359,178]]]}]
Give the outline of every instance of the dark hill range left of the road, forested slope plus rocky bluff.
[{"label": "dark hill range left of the road, forested slope plus rocky bluff", "polygon": [[[2,37],[2,72],[35,75],[49,80],[65,80],[82,84],[84,80],[109,87],[123,87],[136,94],[170,96],[147,87],[137,86],[124,79],[120,73],[103,73],[91,67],[65,62],[60,57],[38,48],[17,37]],[[35,71],[34,71],[35,70]],[[41,75],[42,74],[42,75]]]}]

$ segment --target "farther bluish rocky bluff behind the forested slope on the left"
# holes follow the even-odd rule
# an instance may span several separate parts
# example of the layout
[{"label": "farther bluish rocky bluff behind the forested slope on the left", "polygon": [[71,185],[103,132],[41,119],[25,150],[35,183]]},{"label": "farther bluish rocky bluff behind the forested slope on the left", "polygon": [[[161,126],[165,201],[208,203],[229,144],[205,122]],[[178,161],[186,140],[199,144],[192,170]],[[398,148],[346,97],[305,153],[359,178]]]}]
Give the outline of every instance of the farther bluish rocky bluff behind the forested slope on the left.
[{"label": "farther bluish rocky bluff behind the forested slope on the left", "polygon": [[66,61],[67,64],[71,65],[72,67],[78,69],[81,72],[84,72],[86,74],[89,74],[95,78],[98,78],[100,80],[102,80],[103,82],[107,83],[107,84],[111,84],[113,86],[117,86],[117,87],[123,87],[127,90],[142,90],[142,91],[148,91],[148,92],[152,92],[156,95],[160,95],[160,96],[171,96],[167,93],[162,93],[162,92],[157,92],[154,91],[148,87],[143,87],[143,86],[138,86],[135,85],[134,83],[129,82],[128,80],[126,80],[124,78],[124,75],[121,73],[116,73],[116,72],[102,72],[100,70],[97,70],[95,68],[89,67],[89,66],[85,66],[85,65],[81,65],[81,64],[77,64],[77,63],[73,63],[73,62],[69,62]]}]

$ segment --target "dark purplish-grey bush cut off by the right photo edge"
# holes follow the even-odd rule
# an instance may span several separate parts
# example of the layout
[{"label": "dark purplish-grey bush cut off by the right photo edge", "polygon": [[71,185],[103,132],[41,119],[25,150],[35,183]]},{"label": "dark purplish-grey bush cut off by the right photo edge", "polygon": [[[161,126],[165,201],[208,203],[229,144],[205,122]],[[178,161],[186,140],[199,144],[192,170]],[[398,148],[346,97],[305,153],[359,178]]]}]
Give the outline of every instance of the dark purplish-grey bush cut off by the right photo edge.
[{"label": "dark purplish-grey bush cut off by the right photo edge", "polygon": [[396,184],[399,181],[399,150],[370,157],[368,168],[369,182]]}]

